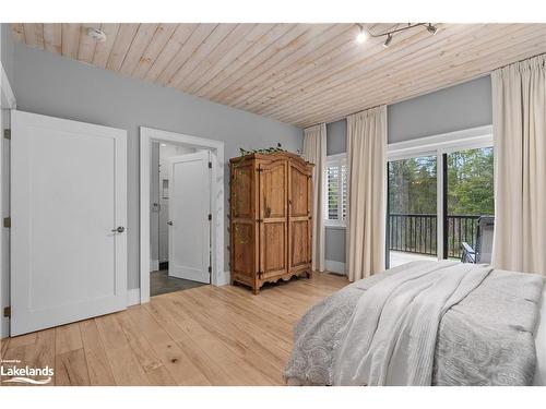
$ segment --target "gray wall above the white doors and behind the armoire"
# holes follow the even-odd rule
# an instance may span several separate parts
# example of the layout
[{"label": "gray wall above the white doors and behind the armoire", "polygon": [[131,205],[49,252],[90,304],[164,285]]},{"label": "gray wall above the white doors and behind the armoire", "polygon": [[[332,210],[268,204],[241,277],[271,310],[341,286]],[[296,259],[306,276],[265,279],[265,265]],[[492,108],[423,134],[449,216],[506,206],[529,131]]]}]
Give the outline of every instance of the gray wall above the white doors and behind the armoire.
[{"label": "gray wall above the white doors and behind the armoire", "polygon": [[[121,76],[46,51],[15,45],[13,89],[19,109],[128,131],[128,286],[139,284],[139,127],[225,142],[226,160],[238,148],[277,142],[301,148],[301,130],[171,88]],[[227,166],[225,166],[227,210]],[[226,226],[227,219],[225,220]],[[227,232],[225,243],[228,244]],[[227,250],[225,252],[228,269]]]}]

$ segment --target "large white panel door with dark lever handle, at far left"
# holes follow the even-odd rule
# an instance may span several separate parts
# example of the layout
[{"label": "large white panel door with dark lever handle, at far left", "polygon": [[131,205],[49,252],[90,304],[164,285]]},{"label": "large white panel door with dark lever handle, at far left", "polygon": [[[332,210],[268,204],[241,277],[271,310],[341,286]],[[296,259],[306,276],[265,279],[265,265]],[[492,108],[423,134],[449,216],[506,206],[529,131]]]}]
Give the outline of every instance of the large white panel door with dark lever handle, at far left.
[{"label": "large white panel door with dark lever handle, at far left", "polygon": [[11,334],[127,304],[126,131],[14,111]]}]

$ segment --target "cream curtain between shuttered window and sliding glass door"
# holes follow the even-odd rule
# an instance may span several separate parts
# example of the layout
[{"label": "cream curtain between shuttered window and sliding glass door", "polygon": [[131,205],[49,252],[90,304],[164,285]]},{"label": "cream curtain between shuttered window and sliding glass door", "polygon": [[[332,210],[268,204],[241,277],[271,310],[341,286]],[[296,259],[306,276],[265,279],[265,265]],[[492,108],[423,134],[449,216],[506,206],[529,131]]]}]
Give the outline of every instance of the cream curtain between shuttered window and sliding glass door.
[{"label": "cream curtain between shuttered window and sliding glass door", "polygon": [[387,107],[347,117],[346,269],[351,281],[384,269]]}]

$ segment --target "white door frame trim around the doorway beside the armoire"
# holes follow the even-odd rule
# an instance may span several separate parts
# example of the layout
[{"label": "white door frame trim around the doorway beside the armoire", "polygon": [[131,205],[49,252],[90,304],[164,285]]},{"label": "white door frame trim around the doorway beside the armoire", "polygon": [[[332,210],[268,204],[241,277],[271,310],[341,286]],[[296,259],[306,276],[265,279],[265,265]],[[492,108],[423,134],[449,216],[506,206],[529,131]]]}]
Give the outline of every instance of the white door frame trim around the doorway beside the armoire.
[{"label": "white door frame trim around the doorway beside the armoire", "polygon": [[150,149],[152,142],[192,147],[213,152],[211,209],[212,209],[212,273],[211,284],[228,282],[224,273],[224,142],[181,133],[140,127],[140,301],[150,301]]}]

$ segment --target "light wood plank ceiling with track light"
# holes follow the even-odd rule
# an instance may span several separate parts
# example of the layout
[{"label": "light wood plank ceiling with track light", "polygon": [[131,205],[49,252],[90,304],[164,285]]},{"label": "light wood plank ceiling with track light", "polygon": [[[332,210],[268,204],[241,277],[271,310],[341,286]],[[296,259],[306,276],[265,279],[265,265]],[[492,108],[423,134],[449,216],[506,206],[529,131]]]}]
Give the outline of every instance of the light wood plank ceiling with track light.
[{"label": "light wood plank ceiling with track light", "polygon": [[[366,24],[373,34],[400,26]],[[97,43],[88,27],[100,28]],[[31,46],[305,128],[546,52],[546,24],[13,24]]]}]

